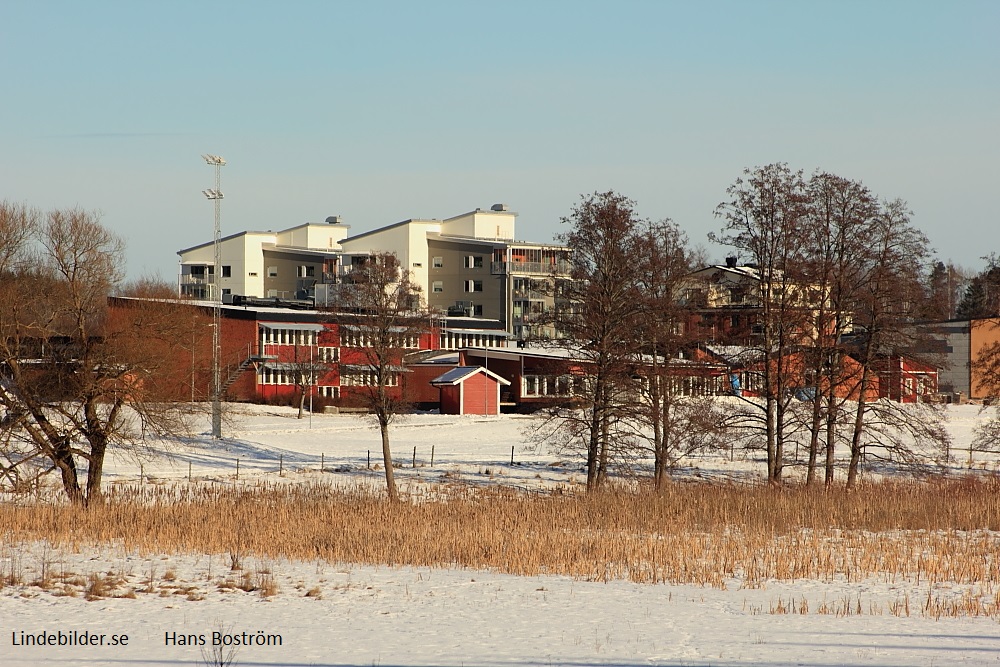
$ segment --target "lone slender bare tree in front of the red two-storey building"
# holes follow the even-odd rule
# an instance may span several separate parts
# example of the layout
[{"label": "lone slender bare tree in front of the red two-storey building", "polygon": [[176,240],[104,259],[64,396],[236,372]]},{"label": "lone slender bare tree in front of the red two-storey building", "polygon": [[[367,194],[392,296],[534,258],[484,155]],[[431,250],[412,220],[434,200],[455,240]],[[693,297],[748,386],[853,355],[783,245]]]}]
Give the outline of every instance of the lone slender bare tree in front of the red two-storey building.
[{"label": "lone slender bare tree in front of the red two-storey building", "polygon": [[386,490],[389,499],[397,502],[389,426],[407,408],[399,386],[404,357],[428,326],[420,287],[394,253],[376,253],[357,265],[341,285],[331,316],[339,324],[342,350],[345,332],[353,328],[357,334],[360,344],[353,349],[360,356],[352,358],[342,352],[341,385],[344,378],[353,378],[353,386],[378,421]]}]

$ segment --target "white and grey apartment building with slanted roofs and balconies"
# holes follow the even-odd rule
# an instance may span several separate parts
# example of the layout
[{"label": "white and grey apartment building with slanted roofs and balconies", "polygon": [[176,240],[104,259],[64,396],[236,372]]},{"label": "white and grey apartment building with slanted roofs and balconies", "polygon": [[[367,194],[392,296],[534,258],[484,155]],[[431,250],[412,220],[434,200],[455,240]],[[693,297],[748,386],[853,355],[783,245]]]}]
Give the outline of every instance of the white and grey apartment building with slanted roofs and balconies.
[{"label": "white and grey apartment building with slanted roofs and balconies", "polygon": [[444,220],[409,219],[350,236],[339,217],[278,232],[241,232],[178,252],[181,296],[244,296],[336,304],[352,265],[394,253],[427,306],[442,316],[498,320],[517,339],[552,337],[543,323],[557,277],[568,277],[564,247],[515,239],[517,214],[504,204]]}]

